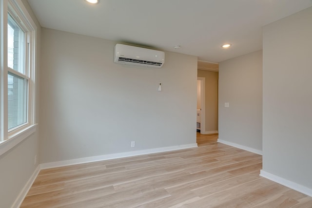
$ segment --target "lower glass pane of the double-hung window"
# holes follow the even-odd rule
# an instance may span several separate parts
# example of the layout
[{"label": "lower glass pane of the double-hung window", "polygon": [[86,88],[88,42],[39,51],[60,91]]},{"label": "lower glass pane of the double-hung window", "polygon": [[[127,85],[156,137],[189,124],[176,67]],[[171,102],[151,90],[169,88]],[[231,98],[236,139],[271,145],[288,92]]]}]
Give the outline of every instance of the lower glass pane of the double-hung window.
[{"label": "lower glass pane of the double-hung window", "polygon": [[27,80],[8,74],[8,129],[27,122]]}]

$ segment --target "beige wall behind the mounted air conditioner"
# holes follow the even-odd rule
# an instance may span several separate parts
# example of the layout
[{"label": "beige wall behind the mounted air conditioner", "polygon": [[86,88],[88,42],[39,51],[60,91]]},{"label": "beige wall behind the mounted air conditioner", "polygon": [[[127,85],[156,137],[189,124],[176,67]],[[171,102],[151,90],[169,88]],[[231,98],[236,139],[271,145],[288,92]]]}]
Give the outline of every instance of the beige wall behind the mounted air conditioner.
[{"label": "beige wall behind the mounted air conditioner", "polygon": [[41,44],[41,163],[196,143],[197,57],[116,64],[116,42],[45,28]]}]

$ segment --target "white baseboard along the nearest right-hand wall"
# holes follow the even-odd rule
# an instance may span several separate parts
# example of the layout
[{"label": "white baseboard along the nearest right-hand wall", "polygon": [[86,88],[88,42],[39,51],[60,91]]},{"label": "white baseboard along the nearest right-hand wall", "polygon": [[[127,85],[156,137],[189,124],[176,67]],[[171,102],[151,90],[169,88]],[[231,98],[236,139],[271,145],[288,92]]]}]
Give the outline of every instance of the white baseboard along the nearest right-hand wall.
[{"label": "white baseboard along the nearest right-hand wall", "polygon": [[294,183],[264,170],[260,170],[260,176],[312,197],[312,189],[309,189],[308,187]]}]

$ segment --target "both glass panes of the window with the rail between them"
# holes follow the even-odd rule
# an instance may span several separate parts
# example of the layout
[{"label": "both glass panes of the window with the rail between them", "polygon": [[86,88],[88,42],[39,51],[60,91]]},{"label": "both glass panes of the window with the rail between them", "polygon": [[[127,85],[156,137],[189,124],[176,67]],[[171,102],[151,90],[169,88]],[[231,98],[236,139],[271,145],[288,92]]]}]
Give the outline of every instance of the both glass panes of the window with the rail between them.
[{"label": "both glass panes of the window with the rail between them", "polygon": [[25,33],[8,15],[8,130],[27,123],[28,71]]}]

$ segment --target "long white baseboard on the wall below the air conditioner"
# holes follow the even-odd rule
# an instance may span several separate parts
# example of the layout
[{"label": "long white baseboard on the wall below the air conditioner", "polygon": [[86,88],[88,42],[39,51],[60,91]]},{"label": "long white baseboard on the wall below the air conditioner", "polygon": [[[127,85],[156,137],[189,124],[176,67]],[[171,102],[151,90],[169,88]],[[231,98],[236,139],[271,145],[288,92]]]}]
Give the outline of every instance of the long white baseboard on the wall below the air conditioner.
[{"label": "long white baseboard on the wall below the air conditioner", "polygon": [[72,159],[72,160],[63,160],[63,161],[58,161],[58,162],[43,163],[43,164],[40,164],[40,169],[43,170],[43,169],[49,169],[49,168],[58,168],[58,167],[68,166],[68,165],[77,165],[77,164],[82,164],[82,163],[97,162],[97,161],[102,161],[102,160],[111,160],[111,159],[117,159],[117,158],[122,158],[122,157],[131,157],[131,156],[152,154],[152,153],[165,152],[165,151],[175,151],[175,150],[182,150],[182,149],[188,149],[188,148],[194,148],[194,147],[197,147],[197,143],[188,144],[188,145],[163,147],[163,148],[155,148],[155,149],[148,149],[148,150],[104,154],[104,155],[83,157],[83,158]]}]

